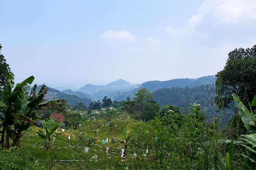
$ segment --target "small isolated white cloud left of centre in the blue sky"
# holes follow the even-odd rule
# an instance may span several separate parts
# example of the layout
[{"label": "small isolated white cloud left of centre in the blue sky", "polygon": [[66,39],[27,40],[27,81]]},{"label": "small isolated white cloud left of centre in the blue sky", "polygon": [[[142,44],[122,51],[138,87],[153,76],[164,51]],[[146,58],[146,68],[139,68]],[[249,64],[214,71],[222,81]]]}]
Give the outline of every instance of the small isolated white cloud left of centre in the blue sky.
[{"label": "small isolated white cloud left of centre in the blue sky", "polygon": [[105,33],[101,34],[104,38],[112,38],[117,40],[125,40],[125,41],[135,41],[136,37],[134,35],[131,35],[129,31],[112,31],[108,30]]}]

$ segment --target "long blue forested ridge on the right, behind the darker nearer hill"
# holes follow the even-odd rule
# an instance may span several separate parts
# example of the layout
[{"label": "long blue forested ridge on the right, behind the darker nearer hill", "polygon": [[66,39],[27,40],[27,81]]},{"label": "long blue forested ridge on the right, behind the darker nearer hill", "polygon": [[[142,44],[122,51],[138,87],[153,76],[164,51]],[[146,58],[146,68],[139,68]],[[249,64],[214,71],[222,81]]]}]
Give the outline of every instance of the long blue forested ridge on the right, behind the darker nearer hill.
[{"label": "long blue forested ridge on the right, behind the darker nearer hill", "polygon": [[201,84],[215,84],[216,76],[208,75],[200,77],[198,79],[172,79],[168,81],[149,81],[141,84],[139,88],[146,88],[151,93],[161,88],[173,88],[173,87],[195,87]]}]

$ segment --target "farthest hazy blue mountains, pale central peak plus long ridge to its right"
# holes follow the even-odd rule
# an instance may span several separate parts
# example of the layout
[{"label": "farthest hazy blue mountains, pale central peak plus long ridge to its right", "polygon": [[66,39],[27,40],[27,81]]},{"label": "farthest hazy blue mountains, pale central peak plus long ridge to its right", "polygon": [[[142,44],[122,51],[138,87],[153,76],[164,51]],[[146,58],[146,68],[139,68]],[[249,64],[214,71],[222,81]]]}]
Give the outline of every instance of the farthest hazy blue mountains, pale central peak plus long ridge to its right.
[{"label": "farthest hazy blue mountains, pale central peak plus long ridge to its right", "polygon": [[105,96],[112,99],[112,101],[126,100],[127,97],[131,99],[135,96],[139,88],[147,88],[151,93],[161,88],[173,88],[173,87],[195,87],[201,84],[214,84],[216,76],[209,75],[200,77],[197,79],[172,79],[168,81],[148,81],[142,84],[131,84],[124,79],[119,79],[115,82],[103,86],[96,86],[92,84],[86,84],[85,86],[76,90],[76,92],[82,92],[90,96],[93,101],[102,100]]}]

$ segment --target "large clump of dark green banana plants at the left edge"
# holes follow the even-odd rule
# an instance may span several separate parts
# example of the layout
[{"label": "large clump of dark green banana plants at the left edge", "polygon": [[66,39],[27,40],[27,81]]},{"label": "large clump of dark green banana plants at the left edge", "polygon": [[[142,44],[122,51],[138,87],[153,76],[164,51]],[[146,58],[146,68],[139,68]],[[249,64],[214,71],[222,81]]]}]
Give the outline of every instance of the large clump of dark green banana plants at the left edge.
[{"label": "large clump of dark green banana plants at the left edge", "polygon": [[14,89],[13,77],[13,73],[9,73],[8,84],[4,87],[3,98],[0,101],[0,126],[2,126],[0,144],[6,149],[9,149],[9,138],[13,139],[13,147],[19,145],[22,131],[29,129],[31,124],[36,121],[36,110],[61,104],[56,99],[43,102],[43,97],[48,90],[45,85],[42,86],[38,94],[36,94],[37,85],[34,85],[31,94],[27,96],[29,84],[34,81],[34,76],[16,84]]}]

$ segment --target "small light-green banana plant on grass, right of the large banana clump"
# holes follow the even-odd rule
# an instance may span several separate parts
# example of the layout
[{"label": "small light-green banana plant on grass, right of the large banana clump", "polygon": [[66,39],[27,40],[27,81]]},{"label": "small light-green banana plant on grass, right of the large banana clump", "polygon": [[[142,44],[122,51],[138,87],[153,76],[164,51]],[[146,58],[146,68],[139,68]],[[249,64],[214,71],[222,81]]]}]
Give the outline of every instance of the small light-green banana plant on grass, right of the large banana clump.
[{"label": "small light-green banana plant on grass, right of the large banana clump", "polygon": [[62,123],[63,122],[56,124],[55,119],[49,119],[46,122],[45,120],[42,120],[44,131],[39,129],[36,133],[43,139],[43,141],[36,143],[34,147],[38,144],[44,143],[44,148],[51,150],[51,137],[56,137],[56,135],[61,134],[61,132],[56,132],[56,129],[58,129]]}]

